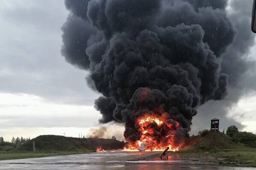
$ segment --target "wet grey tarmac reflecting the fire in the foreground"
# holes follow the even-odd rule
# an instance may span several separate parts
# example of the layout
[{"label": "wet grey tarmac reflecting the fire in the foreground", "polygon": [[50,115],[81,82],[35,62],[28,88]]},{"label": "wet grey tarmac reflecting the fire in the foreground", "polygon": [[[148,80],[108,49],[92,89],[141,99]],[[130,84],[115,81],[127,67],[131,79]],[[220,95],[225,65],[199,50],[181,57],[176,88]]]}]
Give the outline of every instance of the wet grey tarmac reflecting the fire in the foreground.
[{"label": "wet grey tarmac reflecting the fire in the foreground", "polygon": [[0,170],[256,170],[188,164],[184,160],[136,161],[158,156],[147,152],[109,152],[0,161]]}]

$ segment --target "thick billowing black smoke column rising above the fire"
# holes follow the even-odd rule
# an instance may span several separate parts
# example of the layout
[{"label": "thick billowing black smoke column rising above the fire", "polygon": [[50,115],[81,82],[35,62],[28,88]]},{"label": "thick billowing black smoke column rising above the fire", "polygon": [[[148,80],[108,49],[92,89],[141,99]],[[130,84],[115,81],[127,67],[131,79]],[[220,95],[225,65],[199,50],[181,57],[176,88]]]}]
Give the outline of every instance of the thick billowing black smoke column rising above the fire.
[{"label": "thick billowing black smoke column rising above the fire", "polygon": [[[95,101],[100,123],[124,123],[131,141],[141,135],[134,120],[146,113],[168,113],[187,134],[197,107],[227,95],[230,69],[221,64],[231,58],[227,52],[237,35],[227,0],[65,5],[71,13],[62,27],[62,55],[91,73],[88,84],[103,95]],[[168,133],[156,131],[157,137]]]}]

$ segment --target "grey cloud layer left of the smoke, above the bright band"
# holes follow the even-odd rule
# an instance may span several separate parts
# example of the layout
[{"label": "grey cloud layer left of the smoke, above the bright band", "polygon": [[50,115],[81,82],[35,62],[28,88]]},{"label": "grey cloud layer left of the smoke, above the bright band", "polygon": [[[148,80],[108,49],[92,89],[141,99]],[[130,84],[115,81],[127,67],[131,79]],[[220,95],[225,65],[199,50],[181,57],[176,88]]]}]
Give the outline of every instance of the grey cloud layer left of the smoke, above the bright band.
[{"label": "grey cloud layer left of the smoke, above the bright band", "polygon": [[1,1],[0,5],[0,92],[92,105],[98,95],[86,86],[87,73],[65,63],[60,54],[60,28],[68,14],[64,2],[24,0],[5,6]]}]

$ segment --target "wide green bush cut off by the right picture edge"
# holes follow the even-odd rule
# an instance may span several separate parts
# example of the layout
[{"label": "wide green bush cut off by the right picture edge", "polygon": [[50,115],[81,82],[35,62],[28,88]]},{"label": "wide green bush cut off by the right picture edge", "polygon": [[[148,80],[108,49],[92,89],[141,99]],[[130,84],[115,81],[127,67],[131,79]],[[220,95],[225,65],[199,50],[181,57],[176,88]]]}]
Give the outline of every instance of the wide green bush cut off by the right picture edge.
[{"label": "wide green bush cut off by the right picture edge", "polygon": [[256,134],[251,132],[238,132],[233,135],[235,142],[240,142],[248,147],[256,147]]}]

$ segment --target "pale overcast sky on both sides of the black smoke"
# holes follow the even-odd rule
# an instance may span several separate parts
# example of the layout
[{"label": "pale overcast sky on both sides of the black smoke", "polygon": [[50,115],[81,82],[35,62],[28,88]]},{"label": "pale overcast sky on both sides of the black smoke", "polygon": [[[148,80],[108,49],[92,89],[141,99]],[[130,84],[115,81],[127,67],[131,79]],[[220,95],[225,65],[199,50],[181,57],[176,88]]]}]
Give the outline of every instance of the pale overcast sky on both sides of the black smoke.
[{"label": "pale overcast sky on both sides of the black smoke", "polygon": [[[87,87],[87,73],[60,54],[67,15],[64,0],[0,0],[0,136],[6,140],[78,137],[99,125],[93,107],[99,94]],[[256,132],[255,102],[254,92],[244,96],[230,110],[230,119]],[[192,133],[202,128],[208,127],[194,124]]]}]

